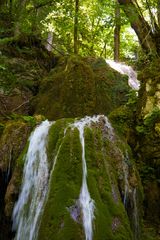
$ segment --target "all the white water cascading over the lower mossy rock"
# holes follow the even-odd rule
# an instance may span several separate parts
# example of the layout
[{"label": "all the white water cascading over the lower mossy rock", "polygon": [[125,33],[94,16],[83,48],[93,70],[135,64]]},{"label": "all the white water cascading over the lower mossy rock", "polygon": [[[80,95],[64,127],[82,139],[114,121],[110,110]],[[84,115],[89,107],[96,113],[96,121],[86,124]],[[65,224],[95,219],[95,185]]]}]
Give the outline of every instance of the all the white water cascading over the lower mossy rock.
[{"label": "all the white water cascading over the lower mossy rock", "polygon": [[[87,186],[87,163],[85,156],[85,128],[100,127],[101,134],[104,139],[108,139],[109,142],[112,142],[116,146],[116,134],[114,129],[108,121],[108,118],[103,115],[98,115],[94,117],[85,117],[81,120],[76,120],[74,123],[67,124],[67,127],[64,130],[63,137],[61,136],[61,141],[58,142],[58,148],[56,145],[56,155],[53,161],[52,172],[49,174],[48,164],[47,164],[47,154],[46,154],[46,145],[47,145],[47,136],[49,128],[52,124],[48,121],[44,121],[40,126],[38,126],[35,131],[30,136],[30,143],[28,152],[26,154],[26,162],[24,166],[23,173],[23,184],[21,193],[16,203],[13,211],[13,229],[16,231],[15,240],[36,240],[40,232],[40,222],[43,220],[40,218],[43,210],[44,201],[47,202],[47,191],[48,186],[50,185],[51,180],[49,177],[54,171],[55,165],[59,153],[61,152],[61,146],[63,146],[66,132],[70,129],[77,129],[79,131],[79,139],[82,149],[82,186],[79,194],[79,199],[76,200],[76,204],[71,207],[66,207],[70,212],[70,215],[74,221],[77,223],[81,222],[81,213],[83,220],[83,228],[85,234],[85,240],[93,240],[93,220],[94,220],[94,211],[97,207],[99,211],[99,203],[95,206],[94,200],[91,198],[89,189]],[[60,143],[60,144],[59,144]],[[54,150],[55,151],[55,150]],[[54,152],[55,153],[55,152]],[[121,154],[122,155],[122,154]],[[122,155],[123,159],[123,155]],[[106,161],[107,162],[107,161]],[[122,164],[122,171],[124,171],[124,182],[125,182],[125,192],[124,192],[124,205],[127,205],[127,198],[129,195],[129,171],[128,171],[128,154],[126,153],[124,157],[124,165]],[[109,181],[112,185],[112,195],[114,198],[114,203],[118,202],[118,195],[116,195],[116,188],[112,184],[112,176],[110,177],[110,165],[106,163]],[[134,189],[133,189],[134,190]],[[133,227],[135,228],[135,236],[138,236],[139,232],[139,221],[138,219],[138,209],[137,209],[137,195],[136,190],[132,192],[133,194]],[[115,204],[116,204],[115,203]],[[54,213],[53,213],[54,214]],[[97,221],[97,219],[96,219]],[[96,224],[95,221],[95,224]],[[118,220],[117,220],[118,221]],[[65,225],[66,226],[66,225]],[[60,230],[63,231],[63,222]],[[95,233],[96,235],[96,233]],[[54,238],[54,237],[53,237]],[[58,239],[58,238],[57,238]],[[67,239],[67,238],[66,238]],[[136,239],[136,238],[135,238]],[[138,239],[138,238],[137,238]]]}]

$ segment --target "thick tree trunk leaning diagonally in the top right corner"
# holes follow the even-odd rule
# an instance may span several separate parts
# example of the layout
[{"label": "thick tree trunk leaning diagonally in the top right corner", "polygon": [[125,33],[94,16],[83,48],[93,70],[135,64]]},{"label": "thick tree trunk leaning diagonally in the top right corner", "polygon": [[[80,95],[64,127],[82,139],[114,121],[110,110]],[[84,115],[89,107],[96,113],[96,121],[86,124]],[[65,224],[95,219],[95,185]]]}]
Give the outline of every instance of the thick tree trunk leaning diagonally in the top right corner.
[{"label": "thick tree trunk leaning diagonally in the top right corner", "polygon": [[133,0],[118,0],[126,16],[128,17],[131,27],[136,32],[139,42],[146,53],[158,54],[156,42],[151,27],[139,13],[138,8],[134,5]]}]

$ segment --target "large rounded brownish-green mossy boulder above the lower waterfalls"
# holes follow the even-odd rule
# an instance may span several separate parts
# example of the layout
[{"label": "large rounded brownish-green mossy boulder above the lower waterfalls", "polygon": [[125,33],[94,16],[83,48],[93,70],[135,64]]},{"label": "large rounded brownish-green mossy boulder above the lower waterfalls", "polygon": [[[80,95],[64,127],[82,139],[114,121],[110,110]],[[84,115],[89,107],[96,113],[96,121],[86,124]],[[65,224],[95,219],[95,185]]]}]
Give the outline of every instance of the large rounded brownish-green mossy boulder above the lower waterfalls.
[{"label": "large rounded brownish-green mossy boulder above the lower waterfalls", "polygon": [[41,82],[36,113],[49,119],[107,114],[127,100],[127,78],[103,59],[66,57]]}]

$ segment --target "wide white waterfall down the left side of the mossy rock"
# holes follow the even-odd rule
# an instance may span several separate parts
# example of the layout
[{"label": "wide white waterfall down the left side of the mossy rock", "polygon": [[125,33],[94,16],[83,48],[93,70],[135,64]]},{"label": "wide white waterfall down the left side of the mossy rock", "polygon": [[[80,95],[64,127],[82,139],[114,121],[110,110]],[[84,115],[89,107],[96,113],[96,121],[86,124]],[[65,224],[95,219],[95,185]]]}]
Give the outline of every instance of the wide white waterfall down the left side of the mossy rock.
[{"label": "wide white waterfall down the left side of the mossy rock", "polygon": [[22,189],[13,211],[15,240],[36,239],[39,218],[48,189],[46,143],[51,125],[47,120],[42,122],[30,136]]}]

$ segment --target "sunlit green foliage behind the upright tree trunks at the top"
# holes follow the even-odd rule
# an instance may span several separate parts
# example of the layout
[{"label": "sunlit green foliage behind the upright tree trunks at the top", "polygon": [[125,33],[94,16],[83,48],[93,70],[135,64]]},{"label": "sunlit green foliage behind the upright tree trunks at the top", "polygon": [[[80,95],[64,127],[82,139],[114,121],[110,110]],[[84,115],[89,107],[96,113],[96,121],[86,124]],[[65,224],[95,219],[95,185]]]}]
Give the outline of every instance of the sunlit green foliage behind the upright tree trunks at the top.
[{"label": "sunlit green foliage behind the upright tree trunks at the top", "polygon": [[[79,2],[78,11],[78,48],[79,54],[86,56],[113,57],[115,1],[86,0]],[[1,43],[10,42],[12,36],[24,34],[41,35],[44,44],[48,33],[53,33],[53,52],[72,54],[74,45],[75,0],[67,1],[17,1],[4,5],[0,11],[5,15],[2,25],[3,39]],[[8,17],[7,17],[8,16]],[[8,22],[6,24],[5,22]],[[6,33],[5,33],[5,27]],[[137,40],[129,33],[129,23],[121,12],[121,55],[127,58],[133,55]],[[9,32],[9,33],[8,33]],[[6,35],[6,38],[5,38]]]}]

